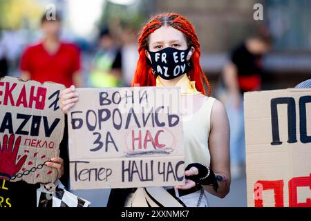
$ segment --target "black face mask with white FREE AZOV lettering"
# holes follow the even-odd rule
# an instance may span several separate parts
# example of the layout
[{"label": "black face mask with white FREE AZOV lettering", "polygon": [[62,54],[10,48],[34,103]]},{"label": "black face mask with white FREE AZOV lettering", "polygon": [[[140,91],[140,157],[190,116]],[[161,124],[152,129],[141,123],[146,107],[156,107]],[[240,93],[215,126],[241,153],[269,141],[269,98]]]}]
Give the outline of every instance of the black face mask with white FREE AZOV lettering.
[{"label": "black face mask with white FREE AZOV lettering", "polygon": [[152,64],[151,68],[163,79],[174,79],[180,75],[187,73],[193,67],[191,59],[187,61],[187,55],[190,48],[187,50],[178,50],[176,48],[164,48],[157,52],[149,51]]}]

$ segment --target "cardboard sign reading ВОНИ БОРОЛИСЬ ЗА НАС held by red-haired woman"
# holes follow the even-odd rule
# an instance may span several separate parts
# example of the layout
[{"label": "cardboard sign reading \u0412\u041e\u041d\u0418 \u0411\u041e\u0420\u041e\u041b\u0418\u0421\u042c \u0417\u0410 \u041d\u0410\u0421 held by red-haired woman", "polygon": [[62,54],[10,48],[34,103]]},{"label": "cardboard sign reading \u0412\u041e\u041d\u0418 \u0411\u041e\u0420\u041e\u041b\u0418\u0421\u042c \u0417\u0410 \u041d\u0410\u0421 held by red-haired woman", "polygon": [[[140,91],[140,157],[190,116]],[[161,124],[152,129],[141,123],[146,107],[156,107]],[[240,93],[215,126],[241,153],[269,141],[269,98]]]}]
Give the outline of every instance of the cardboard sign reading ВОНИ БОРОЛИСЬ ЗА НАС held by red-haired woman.
[{"label": "cardboard sign reading \u0412\u041e\u041d\u0418 \u0411\u041e\u0420\u041e\u041b\u0418\u0421\u042c \u0417\u0410 \u041d\u0410\u0421 held by red-haired woman", "polygon": [[184,183],[180,88],[78,88],[68,113],[72,189]]}]

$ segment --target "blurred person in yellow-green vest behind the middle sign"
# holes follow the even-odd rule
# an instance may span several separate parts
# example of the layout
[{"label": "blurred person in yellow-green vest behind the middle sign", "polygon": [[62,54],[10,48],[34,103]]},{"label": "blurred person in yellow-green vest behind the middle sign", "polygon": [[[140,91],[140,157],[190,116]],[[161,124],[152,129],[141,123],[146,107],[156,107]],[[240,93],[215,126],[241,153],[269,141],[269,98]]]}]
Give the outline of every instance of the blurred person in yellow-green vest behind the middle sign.
[{"label": "blurred person in yellow-green vest behind the middle sign", "polygon": [[100,49],[93,59],[89,85],[95,88],[122,86],[122,56],[109,29],[100,32]]}]

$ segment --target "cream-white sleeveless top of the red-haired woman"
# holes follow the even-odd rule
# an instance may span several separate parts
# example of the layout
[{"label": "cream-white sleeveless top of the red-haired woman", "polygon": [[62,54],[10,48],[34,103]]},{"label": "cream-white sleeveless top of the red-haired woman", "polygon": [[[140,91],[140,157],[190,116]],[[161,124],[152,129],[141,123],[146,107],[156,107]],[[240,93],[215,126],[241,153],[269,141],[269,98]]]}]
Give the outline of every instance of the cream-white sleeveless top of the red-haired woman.
[{"label": "cream-white sleeveless top of the red-haired woman", "polygon": [[202,106],[191,116],[182,117],[185,142],[185,167],[191,163],[209,166],[209,131],[211,128],[211,108],[216,99],[206,97]]}]

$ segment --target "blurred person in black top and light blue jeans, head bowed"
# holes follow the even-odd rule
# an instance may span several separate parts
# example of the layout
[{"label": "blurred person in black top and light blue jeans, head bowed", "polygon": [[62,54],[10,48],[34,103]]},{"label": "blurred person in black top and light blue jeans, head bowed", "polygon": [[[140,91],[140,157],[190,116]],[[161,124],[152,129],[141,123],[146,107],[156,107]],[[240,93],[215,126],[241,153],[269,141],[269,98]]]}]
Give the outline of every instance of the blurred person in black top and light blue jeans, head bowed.
[{"label": "blurred person in black top and light blue jeans, head bowed", "polygon": [[222,80],[227,97],[225,103],[231,126],[230,153],[232,178],[245,173],[245,133],[243,93],[261,90],[263,55],[269,52],[272,38],[264,29],[234,48],[223,68]]}]

